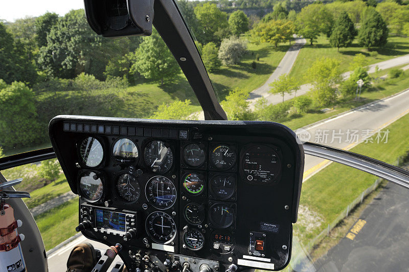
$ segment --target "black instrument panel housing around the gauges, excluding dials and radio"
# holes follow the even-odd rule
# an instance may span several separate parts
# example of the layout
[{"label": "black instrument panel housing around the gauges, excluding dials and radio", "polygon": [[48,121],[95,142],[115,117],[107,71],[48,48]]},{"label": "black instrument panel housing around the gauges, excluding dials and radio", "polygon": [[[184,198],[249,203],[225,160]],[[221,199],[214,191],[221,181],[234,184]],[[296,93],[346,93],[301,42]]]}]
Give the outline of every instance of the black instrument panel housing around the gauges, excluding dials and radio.
[{"label": "black instrument panel housing around the gauges, excluding dials and radio", "polygon": [[[85,127],[90,128],[91,126],[94,128],[96,126],[96,131],[95,129],[94,132],[91,132],[91,129],[84,131]],[[82,128],[82,130],[79,131],[78,128]],[[128,254],[131,251],[155,255],[162,262],[165,258],[175,260],[179,256],[215,261],[224,268],[227,268],[231,263],[238,264],[239,259],[241,259],[241,264],[238,264],[239,270],[249,268],[253,262],[258,262],[254,261],[257,260],[254,257],[259,254],[257,251],[251,252],[254,247],[249,243],[254,239],[258,239],[259,236],[265,237],[261,238],[265,242],[264,251],[261,252],[263,258],[261,259],[264,259],[264,257],[269,259],[269,262],[263,261],[274,264],[274,268],[271,268],[271,266],[259,266],[258,268],[280,270],[289,263],[292,223],[297,221],[300,201],[304,150],[302,144],[297,142],[296,134],[286,126],[258,121],[178,121],[57,116],[50,122],[49,133],[67,182],[71,190],[76,194],[79,193],[77,190],[79,171],[93,170],[93,168],[85,168],[80,164],[76,143],[88,136],[102,139],[105,151],[104,164],[94,170],[104,172],[105,184],[107,185],[107,188],[104,188],[106,192],[105,199],[98,203],[86,203],[80,197],[80,205],[138,214],[138,235],[137,238],[125,242],[120,236],[109,236],[95,232],[93,229],[84,230],[82,233],[89,239],[107,245],[121,243],[124,250],[119,254],[127,267],[132,268],[137,265],[131,258],[132,256]],[[120,138],[129,138],[138,146],[139,160],[137,164],[119,164],[111,156],[112,144]],[[173,165],[166,173],[153,173],[144,164],[144,146],[151,140],[164,141],[172,149]],[[197,143],[200,147],[206,148],[205,163],[199,167],[186,166],[183,158],[181,158],[183,147],[188,143]],[[210,161],[210,149],[220,143],[231,145],[236,152],[235,165],[226,170],[212,167],[213,164]],[[280,175],[274,183],[252,184],[241,176],[240,165],[242,152],[244,152],[243,147],[257,144],[276,147],[277,153],[281,156]],[[181,179],[187,172],[200,173],[205,177],[205,191],[200,195],[189,195],[184,190]],[[138,201],[126,203],[126,201],[120,200],[116,193],[113,193],[116,190],[114,184],[116,180],[114,178],[119,173],[130,173],[138,177],[141,187],[141,195]],[[235,192],[229,199],[212,198],[209,181],[216,174],[236,177]],[[151,177],[157,175],[169,178],[176,187],[176,201],[169,209],[156,209],[149,205],[146,199],[145,185]],[[109,208],[104,206],[104,200],[109,201]],[[206,243],[199,251],[192,251],[183,246],[184,228],[186,229],[188,225],[184,217],[184,208],[189,202],[196,202],[206,207],[205,221],[199,225],[205,236]],[[234,210],[235,218],[229,228],[219,230],[210,223],[209,208],[218,202],[228,205]],[[145,206],[146,204],[148,205]],[[173,252],[154,250],[151,247],[152,241],[150,239],[148,245],[144,241],[148,237],[145,230],[145,220],[149,214],[155,211],[167,213],[176,223],[176,237],[172,240],[172,243],[167,244],[173,246]],[[81,222],[82,219],[80,214],[79,221]],[[189,228],[198,228],[198,226],[189,225]],[[224,251],[223,244],[221,244],[221,248],[214,247],[216,243],[213,242],[213,235],[219,233],[227,236],[231,235],[233,238],[234,242],[228,246],[230,247],[228,251]],[[285,250],[283,249],[284,245]],[[261,253],[259,257],[261,257]],[[254,257],[249,259],[249,255]],[[231,258],[233,258],[233,262]],[[160,267],[162,266],[160,265]]]}]

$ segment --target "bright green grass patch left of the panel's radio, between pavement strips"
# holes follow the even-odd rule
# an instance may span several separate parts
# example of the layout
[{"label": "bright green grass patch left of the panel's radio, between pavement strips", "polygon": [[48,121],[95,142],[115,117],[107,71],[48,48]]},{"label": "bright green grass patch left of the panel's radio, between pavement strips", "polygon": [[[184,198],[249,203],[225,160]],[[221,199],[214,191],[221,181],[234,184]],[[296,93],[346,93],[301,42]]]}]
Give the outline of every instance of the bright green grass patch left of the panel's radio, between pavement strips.
[{"label": "bright green grass patch left of the panel's radio, between pavement strips", "polygon": [[78,199],[72,199],[50,211],[36,216],[46,251],[75,235],[78,224]]}]

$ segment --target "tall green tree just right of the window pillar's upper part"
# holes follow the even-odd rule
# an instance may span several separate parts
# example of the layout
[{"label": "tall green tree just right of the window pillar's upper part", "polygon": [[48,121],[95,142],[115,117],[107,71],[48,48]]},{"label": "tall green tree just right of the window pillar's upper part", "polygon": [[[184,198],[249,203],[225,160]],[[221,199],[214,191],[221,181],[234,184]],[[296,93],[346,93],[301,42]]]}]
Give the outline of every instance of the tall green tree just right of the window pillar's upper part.
[{"label": "tall green tree just right of the window pillar's upper part", "polygon": [[219,10],[216,4],[206,2],[199,4],[194,9],[198,20],[198,39],[201,43],[220,42],[216,33],[229,28],[227,13]]}]

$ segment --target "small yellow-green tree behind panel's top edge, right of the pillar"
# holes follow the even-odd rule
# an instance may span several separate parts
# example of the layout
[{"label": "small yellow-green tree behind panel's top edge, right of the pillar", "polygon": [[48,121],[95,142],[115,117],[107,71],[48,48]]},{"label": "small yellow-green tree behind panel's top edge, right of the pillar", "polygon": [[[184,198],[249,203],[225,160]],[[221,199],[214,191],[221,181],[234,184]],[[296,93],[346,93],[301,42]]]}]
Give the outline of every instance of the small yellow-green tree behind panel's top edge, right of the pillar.
[{"label": "small yellow-green tree behind panel's top edge, right of the pillar", "polygon": [[239,88],[235,88],[225,97],[221,106],[229,120],[254,120],[249,108],[250,102],[247,101],[248,97],[248,92]]}]

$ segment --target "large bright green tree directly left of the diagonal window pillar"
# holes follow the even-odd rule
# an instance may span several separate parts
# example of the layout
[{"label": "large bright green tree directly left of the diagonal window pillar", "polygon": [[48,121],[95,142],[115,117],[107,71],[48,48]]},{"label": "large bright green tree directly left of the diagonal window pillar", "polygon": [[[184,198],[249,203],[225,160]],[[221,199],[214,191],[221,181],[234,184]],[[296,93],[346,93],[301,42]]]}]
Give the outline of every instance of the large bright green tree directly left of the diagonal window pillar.
[{"label": "large bright green tree directly left of the diagonal window pillar", "polygon": [[139,48],[130,53],[130,59],[133,62],[131,73],[139,72],[146,79],[161,80],[161,85],[180,73],[179,64],[156,30],[143,38]]}]

